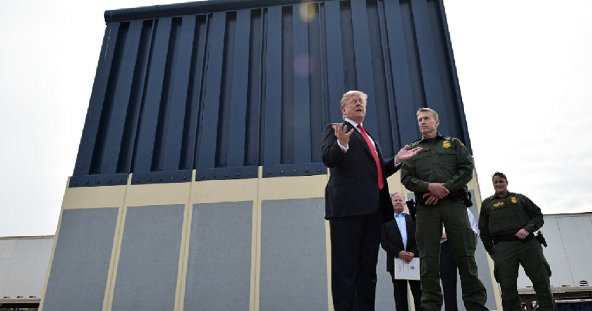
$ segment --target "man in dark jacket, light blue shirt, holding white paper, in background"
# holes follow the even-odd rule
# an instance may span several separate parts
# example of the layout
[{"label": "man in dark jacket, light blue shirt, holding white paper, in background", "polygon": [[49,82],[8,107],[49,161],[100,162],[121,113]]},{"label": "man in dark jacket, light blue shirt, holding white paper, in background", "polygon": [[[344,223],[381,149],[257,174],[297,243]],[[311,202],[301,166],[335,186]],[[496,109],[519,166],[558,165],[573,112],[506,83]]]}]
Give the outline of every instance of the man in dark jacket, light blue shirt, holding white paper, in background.
[{"label": "man in dark jacket, light blue shirt, holding white paper, in background", "polygon": [[[395,193],[391,197],[392,210],[395,219],[382,224],[382,238],[380,245],[387,251],[387,271],[391,273],[393,294],[395,297],[395,309],[397,311],[409,311],[407,304],[407,280],[395,279],[395,258],[404,262],[410,262],[413,257],[419,257],[417,243],[415,241],[415,222],[411,216],[406,215],[405,198],[403,194]],[[415,310],[420,311],[422,307],[422,289],[419,281],[409,280],[413,304]]]}]

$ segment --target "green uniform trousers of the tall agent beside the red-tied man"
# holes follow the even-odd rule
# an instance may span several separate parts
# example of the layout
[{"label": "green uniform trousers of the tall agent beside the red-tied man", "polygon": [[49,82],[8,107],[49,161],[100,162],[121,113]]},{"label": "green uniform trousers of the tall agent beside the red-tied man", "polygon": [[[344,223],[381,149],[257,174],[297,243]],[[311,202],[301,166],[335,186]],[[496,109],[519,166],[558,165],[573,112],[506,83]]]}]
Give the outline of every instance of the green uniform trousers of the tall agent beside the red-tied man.
[{"label": "green uniform trousers of the tall agent beside the red-tied man", "polygon": [[466,310],[487,310],[487,291],[477,277],[475,247],[477,237],[471,229],[462,200],[440,200],[436,205],[417,204],[416,239],[420,258],[422,309],[440,311],[440,238],[442,224],[461,276],[462,300]]}]

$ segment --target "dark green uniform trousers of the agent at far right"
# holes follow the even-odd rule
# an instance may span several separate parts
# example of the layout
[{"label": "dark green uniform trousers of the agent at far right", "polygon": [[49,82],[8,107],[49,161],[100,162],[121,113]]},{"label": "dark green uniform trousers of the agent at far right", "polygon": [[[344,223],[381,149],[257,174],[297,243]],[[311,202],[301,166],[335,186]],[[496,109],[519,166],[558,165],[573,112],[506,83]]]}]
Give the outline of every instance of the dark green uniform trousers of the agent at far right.
[{"label": "dark green uniform trousers of the agent at far right", "polygon": [[532,239],[526,242],[498,242],[493,245],[493,259],[495,262],[494,275],[497,282],[500,283],[501,304],[504,311],[522,310],[517,290],[519,264],[522,264],[527,277],[532,281],[540,310],[557,311],[557,305],[549,285],[551,268],[543,255],[543,248],[539,241]]}]

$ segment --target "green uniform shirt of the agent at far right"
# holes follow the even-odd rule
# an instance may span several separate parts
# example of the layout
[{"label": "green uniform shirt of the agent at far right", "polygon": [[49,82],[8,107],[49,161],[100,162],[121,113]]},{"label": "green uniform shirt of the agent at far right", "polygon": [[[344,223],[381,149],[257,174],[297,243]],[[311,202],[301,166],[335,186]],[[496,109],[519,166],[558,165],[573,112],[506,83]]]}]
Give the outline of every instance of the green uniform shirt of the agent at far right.
[{"label": "green uniform shirt of the agent at far right", "polygon": [[491,254],[493,235],[514,235],[524,228],[533,233],[543,226],[543,214],[526,195],[508,192],[506,197],[497,194],[483,200],[479,214],[479,230],[485,250]]}]

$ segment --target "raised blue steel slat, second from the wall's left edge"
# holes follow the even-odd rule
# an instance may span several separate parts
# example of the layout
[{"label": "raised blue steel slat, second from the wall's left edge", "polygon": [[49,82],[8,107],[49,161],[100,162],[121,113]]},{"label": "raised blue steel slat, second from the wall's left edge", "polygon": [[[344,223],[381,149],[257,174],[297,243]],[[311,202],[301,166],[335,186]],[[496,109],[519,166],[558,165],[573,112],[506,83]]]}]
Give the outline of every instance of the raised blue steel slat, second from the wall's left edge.
[{"label": "raised blue steel slat, second from the wall's left edge", "polygon": [[111,118],[105,139],[105,148],[101,163],[101,174],[117,172],[117,162],[121,152],[124,126],[130,104],[131,84],[136,68],[136,59],[142,31],[142,21],[133,21],[124,42],[123,59],[118,68],[119,78],[115,87],[115,97],[111,108]]}]

